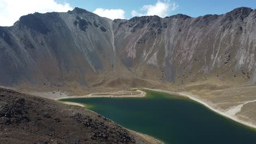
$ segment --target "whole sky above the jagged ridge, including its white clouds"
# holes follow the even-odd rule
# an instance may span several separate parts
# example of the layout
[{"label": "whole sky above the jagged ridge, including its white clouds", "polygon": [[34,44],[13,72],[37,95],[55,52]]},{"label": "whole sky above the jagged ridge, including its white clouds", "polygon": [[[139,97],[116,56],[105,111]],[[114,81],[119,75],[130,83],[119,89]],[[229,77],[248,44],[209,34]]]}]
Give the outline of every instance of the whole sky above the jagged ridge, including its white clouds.
[{"label": "whole sky above the jagged ridge, including its white clouds", "polygon": [[12,26],[22,15],[66,12],[83,8],[109,19],[133,16],[160,17],[185,14],[192,17],[225,14],[238,7],[256,9],[256,0],[0,0],[0,26]]}]

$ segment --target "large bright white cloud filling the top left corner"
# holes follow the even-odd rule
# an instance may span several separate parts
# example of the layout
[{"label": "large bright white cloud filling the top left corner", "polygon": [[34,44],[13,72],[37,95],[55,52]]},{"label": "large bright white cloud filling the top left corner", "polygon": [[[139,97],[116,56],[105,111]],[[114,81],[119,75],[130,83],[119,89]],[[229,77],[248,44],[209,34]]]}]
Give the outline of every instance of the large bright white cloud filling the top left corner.
[{"label": "large bright white cloud filling the top left corner", "polygon": [[55,0],[0,0],[0,26],[12,26],[22,15],[68,10],[72,10],[68,3]]}]

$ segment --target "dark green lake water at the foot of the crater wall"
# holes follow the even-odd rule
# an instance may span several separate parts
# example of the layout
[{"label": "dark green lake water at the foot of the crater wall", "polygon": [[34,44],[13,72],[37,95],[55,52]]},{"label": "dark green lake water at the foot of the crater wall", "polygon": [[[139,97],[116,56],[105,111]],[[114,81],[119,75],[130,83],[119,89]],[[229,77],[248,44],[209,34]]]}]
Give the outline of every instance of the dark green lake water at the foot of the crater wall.
[{"label": "dark green lake water at the foot of the crater wall", "polygon": [[[144,90],[143,90],[144,91]],[[256,130],[218,115],[188,98],[145,91],[144,98],[62,99],[88,109],[125,128],[165,143],[256,143]]]}]

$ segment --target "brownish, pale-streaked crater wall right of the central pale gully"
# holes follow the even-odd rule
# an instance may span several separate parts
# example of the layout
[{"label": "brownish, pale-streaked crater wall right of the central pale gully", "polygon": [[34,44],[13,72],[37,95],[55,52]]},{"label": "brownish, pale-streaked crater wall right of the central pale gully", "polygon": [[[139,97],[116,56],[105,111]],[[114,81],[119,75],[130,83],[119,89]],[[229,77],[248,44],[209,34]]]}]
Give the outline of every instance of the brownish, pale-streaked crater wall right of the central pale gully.
[{"label": "brownish, pale-streaked crater wall right of the central pale gully", "polygon": [[[255,10],[237,8],[196,18],[179,14],[114,20],[115,47],[126,67],[155,67],[158,75],[148,76],[155,79],[183,84],[221,75],[255,82],[255,16]],[[147,73],[144,68],[138,76]]]}]

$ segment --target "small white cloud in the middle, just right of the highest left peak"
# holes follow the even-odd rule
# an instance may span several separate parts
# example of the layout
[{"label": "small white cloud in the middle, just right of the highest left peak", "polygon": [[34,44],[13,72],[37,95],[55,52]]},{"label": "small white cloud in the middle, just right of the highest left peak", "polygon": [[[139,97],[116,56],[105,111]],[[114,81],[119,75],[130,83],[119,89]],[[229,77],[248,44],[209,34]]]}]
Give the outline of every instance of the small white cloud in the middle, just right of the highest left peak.
[{"label": "small white cloud in the middle, just right of the highest left peak", "polygon": [[103,9],[97,8],[93,13],[107,17],[108,19],[125,19],[125,11],[123,9]]}]

